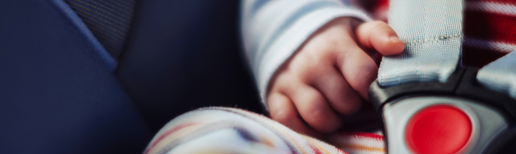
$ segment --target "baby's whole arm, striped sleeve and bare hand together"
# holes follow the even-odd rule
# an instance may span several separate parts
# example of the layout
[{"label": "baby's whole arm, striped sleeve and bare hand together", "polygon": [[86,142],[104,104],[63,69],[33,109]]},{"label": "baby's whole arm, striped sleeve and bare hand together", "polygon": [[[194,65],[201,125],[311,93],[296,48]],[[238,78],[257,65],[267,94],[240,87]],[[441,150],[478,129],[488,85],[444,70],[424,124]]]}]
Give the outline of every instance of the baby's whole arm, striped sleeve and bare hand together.
[{"label": "baby's whole arm, striped sleeve and bare hand together", "polygon": [[404,48],[387,24],[359,25],[355,18],[369,18],[341,1],[250,0],[242,10],[262,100],[274,120],[301,133],[334,131],[338,114],[352,114],[367,99],[378,67],[363,49],[392,55]]}]

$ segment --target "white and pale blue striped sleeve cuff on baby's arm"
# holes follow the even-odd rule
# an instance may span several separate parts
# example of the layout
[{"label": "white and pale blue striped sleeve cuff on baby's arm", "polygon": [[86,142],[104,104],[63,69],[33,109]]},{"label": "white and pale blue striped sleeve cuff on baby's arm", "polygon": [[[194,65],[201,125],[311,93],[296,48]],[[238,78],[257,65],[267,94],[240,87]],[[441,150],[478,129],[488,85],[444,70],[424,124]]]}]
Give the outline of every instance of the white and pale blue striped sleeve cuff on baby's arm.
[{"label": "white and pale blue striped sleeve cuff on baby's arm", "polygon": [[370,20],[348,1],[243,0],[241,37],[265,105],[268,81],[276,69],[312,32],[341,16]]}]

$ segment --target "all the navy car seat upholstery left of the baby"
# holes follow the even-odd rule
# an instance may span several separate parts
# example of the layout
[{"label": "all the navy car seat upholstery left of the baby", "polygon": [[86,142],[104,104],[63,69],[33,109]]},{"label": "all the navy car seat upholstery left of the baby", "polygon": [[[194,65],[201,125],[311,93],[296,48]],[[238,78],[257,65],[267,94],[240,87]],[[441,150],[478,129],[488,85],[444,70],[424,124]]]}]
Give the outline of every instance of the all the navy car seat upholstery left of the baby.
[{"label": "all the navy car seat upholstery left of the baby", "polygon": [[175,116],[261,112],[239,1],[137,1],[118,70],[49,0],[0,1],[0,153],[142,153]]}]

